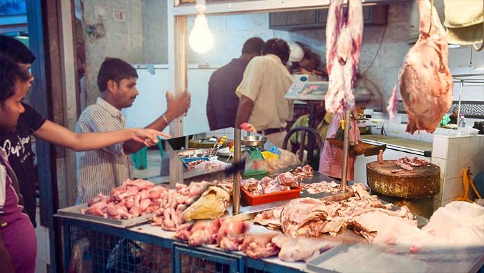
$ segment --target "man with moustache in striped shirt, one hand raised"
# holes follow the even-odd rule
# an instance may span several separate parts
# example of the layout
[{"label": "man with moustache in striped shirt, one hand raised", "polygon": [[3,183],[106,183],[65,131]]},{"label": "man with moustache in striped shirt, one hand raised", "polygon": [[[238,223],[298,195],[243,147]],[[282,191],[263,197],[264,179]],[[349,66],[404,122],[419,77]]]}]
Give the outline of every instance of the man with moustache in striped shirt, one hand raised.
[{"label": "man with moustache in striped shirt, one hand raised", "polygon": [[[76,131],[107,132],[124,128],[123,108],[130,107],[139,94],[136,89],[138,73],[127,62],[106,58],[97,73],[97,86],[101,97],[82,111]],[[149,124],[147,129],[162,131],[169,122],[183,115],[190,106],[190,95],[184,92],[177,98],[167,92],[167,111]],[[133,178],[131,153],[142,144],[128,141],[96,151],[77,153],[77,203],[86,203],[97,194],[110,194],[127,179]]]}]

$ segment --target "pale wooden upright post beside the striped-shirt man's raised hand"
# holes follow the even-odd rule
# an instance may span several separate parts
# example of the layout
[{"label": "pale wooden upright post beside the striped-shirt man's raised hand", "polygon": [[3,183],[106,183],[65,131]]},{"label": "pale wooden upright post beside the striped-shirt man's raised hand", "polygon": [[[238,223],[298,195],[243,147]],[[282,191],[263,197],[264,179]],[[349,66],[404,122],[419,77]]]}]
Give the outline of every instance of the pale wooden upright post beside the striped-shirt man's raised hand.
[{"label": "pale wooden upright post beside the striped-shirt man's raised hand", "polygon": [[[168,64],[170,91],[180,95],[187,89],[187,17],[174,16],[174,0],[167,1],[168,10]],[[183,136],[183,117],[177,117],[169,126],[169,133],[174,138]],[[185,147],[188,149],[188,147]],[[171,150],[169,156],[170,187],[183,182],[183,164],[176,153]]]}]

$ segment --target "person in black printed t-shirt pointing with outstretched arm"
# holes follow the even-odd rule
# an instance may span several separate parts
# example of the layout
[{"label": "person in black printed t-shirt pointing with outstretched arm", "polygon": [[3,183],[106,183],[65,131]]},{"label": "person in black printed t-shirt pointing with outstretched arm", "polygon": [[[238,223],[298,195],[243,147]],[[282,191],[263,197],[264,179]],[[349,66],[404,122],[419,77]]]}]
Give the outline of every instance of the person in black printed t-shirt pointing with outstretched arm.
[{"label": "person in black printed t-shirt pointing with outstretched arm", "polygon": [[[17,63],[22,71],[30,75],[30,65],[35,61],[35,56],[30,50],[17,39],[0,35],[0,57]],[[34,77],[30,75],[27,88]],[[26,211],[30,221],[35,223],[35,176],[34,156],[30,138],[36,138],[58,144],[74,151],[88,151],[102,149],[113,144],[135,140],[147,146],[158,142],[158,135],[169,137],[152,129],[124,129],[109,133],[74,133],[68,129],[46,120],[35,109],[23,104],[25,113],[19,116],[19,122],[15,128],[0,130],[0,147],[6,150],[8,160],[19,180],[20,193],[24,197]]]}]

